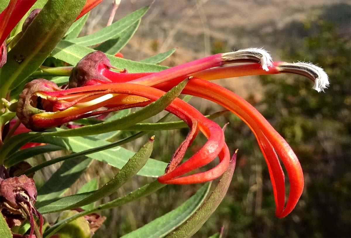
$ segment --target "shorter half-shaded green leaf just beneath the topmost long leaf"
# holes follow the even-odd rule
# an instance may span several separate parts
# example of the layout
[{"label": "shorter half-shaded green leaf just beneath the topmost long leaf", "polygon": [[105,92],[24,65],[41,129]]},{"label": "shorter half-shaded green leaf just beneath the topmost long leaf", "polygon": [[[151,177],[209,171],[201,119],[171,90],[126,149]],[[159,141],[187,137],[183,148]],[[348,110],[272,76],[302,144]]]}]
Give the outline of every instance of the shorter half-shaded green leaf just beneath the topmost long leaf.
[{"label": "shorter half-shaded green leaf just beneath the topmost long leaf", "polygon": [[137,31],[139,24],[140,20],[136,21],[133,25],[119,33],[117,36],[103,42],[101,45],[95,47],[94,49],[97,51],[102,51],[106,54],[117,54],[132,38],[134,33]]}]

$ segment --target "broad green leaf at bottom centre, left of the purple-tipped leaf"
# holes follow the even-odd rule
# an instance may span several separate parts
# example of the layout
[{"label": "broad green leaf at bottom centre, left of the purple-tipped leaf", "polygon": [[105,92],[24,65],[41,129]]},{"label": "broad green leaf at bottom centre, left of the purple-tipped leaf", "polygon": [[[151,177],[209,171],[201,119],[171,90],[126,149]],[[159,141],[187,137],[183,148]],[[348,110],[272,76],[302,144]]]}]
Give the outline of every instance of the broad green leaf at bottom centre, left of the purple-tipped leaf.
[{"label": "broad green leaf at bottom centre, left of the purple-tipped leaf", "polygon": [[182,205],[168,212],[167,214],[153,220],[139,229],[132,231],[122,238],[132,237],[145,237],[145,238],[158,238],[164,237],[182,223],[186,221],[192,214],[198,210],[200,205],[205,200],[208,191],[210,190],[211,183],[205,184],[201,187],[194,196],[186,200]]}]

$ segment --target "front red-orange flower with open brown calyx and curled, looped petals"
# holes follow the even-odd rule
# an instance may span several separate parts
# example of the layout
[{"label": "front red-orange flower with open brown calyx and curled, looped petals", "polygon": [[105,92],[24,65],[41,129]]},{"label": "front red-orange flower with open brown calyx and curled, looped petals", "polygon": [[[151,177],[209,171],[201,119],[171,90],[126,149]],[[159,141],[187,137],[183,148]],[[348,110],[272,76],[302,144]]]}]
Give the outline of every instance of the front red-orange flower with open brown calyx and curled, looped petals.
[{"label": "front red-orange flower with open brown calyx and curled, looped petals", "polygon": [[[125,96],[128,94],[130,96]],[[102,84],[61,90],[53,82],[37,79],[29,82],[18,101],[17,117],[33,131],[44,130],[68,121],[99,115],[131,107],[143,107],[159,99],[165,92],[156,88],[135,84]],[[122,95],[122,97],[120,97]],[[107,110],[90,112],[103,106]],[[195,108],[176,98],[166,111],[184,120],[192,130],[174,156],[164,176],[159,177],[162,183],[190,184],[218,178],[229,165],[229,150],[224,142],[222,129],[207,119]],[[200,130],[208,141],[183,164],[179,164],[185,149]],[[197,174],[183,176],[196,168],[202,167],[216,157],[220,163],[214,168]],[[183,177],[180,177],[183,176]]]}]

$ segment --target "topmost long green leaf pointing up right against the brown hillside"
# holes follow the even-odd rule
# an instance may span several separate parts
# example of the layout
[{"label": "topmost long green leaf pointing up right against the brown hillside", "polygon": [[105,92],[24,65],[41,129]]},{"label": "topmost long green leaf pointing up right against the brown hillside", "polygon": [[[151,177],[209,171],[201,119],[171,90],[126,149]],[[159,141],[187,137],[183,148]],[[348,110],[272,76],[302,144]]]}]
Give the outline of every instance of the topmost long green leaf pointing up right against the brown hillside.
[{"label": "topmost long green leaf pointing up right against the brown hillside", "polygon": [[70,42],[82,46],[91,46],[109,40],[124,31],[126,28],[133,25],[134,22],[138,21],[147,12],[148,8],[149,6],[140,8],[137,11],[125,16],[124,18],[114,22],[110,26],[102,28],[100,31],[86,35],[84,37],[72,39]]}]

